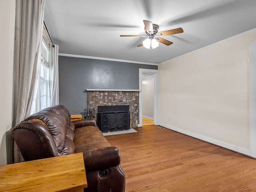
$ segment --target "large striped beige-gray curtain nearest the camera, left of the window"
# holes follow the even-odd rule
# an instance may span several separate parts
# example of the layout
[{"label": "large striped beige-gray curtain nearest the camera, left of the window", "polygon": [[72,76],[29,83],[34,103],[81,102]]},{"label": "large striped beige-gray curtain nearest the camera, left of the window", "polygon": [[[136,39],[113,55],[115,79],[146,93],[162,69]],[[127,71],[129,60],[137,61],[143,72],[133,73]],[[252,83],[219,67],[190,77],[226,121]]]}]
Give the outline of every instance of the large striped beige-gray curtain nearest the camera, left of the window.
[{"label": "large striped beige-gray curtain nearest the camera, left of the window", "polygon": [[33,110],[38,86],[38,57],[42,42],[44,0],[16,1],[14,124]]}]

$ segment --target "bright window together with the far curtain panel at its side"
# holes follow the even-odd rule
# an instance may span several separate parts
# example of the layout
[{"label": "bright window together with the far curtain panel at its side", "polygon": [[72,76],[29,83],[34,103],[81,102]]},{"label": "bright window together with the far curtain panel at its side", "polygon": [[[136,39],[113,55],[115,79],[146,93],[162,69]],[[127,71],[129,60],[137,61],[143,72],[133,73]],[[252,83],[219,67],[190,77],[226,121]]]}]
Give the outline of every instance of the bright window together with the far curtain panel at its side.
[{"label": "bright window together with the far curtain panel at its side", "polygon": [[44,25],[42,44],[36,73],[36,96],[33,97],[32,114],[58,104],[58,45],[52,46]]}]

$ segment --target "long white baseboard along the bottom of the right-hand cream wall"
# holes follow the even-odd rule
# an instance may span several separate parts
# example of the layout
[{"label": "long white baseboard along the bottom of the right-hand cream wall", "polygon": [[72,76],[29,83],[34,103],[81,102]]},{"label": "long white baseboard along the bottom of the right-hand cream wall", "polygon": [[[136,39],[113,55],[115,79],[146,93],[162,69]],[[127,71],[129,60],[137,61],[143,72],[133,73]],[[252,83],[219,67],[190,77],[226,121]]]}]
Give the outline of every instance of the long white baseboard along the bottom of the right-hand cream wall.
[{"label": "long white baseboard along the bottom of the right-hand cream wall", "polygon": [[203,141],[206,141],[206,142],[209,142],[209,143],[212,143],[212,144],[215,144],[215,145],[218,145],[218,146],[227,148],[227,149],[229,149],[229,150],[232,150],[232,151],[235,151],[235,152],[244,154],[244,155],[246,155],[246,156],[251,156],[251,157],[253,157],[253,158],[256,158],[256,156],[252,156],[250,150],[246,150],[246,149],[243,149],[243,148],[239,148],[239,147],[236,147],[236,146],[233,146],[233,145],[224,143],[224,142],[220,142],[220,141],[217,141],[217,140],[214,140],[214,139],[205,137],[205,136],[201,136],[201,135],[198,135],[198,134],[194,134],[194,133],[192,133],[192,132],[188,132],[188,131],[186,131],[186,130],[182,130],[182,129],[180,129],[180,128],[176,128],[176,127],[173,127],[173,126],[169,126],[169,125],[166,125],[166,124],[163,124],[163,123],[159,123],[159,125],[162,126],[162,127],[168,128],[168,129],[170,129],[170,130],[173,130],[173,131],[176,131],[176,132],[179,132],[179,133],[188,135],[188,136],[192,136],[192,137],[194,137],[194,138],[197,138],[197,139],[200,139],[200,140],[203,140]]}]

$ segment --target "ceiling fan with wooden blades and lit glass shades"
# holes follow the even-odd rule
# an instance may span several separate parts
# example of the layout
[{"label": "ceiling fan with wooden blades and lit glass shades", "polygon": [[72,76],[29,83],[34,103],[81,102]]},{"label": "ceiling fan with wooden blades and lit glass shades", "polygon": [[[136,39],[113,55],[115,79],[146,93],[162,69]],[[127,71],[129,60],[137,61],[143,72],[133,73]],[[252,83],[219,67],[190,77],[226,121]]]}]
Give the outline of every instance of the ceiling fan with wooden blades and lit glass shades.
[{"label": "ceiling fan with wooden blades and lit glass shades", "polygon": [[159,46],[159,42],[167,46],[172,44],[172,42],[160,36],[183,33],[182,28],[176,28],[176,29],[158,32],[159,25],[153,24],[151,21],[148,21],[148,20],[143,20],[143,22],[145,25],[144,30],[146,35],[120,35],[120,37],[147,37],[144,41],[138,44],[137,47],[144,46],[145,48],[148,48],[151,51],[151,48],[154,49]]}]

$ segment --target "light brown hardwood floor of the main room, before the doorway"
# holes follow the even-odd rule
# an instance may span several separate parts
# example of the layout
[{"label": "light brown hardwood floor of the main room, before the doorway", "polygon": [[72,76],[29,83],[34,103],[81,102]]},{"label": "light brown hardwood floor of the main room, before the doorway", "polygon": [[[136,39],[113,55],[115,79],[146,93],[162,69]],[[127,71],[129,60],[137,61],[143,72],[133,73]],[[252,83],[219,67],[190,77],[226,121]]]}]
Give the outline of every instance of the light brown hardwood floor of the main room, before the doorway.
[{"label": "light brown hardwood floor of the main room, before the doorway", "polygon": [[256,160],[158,126],[106,136],[121,153],[126,192],[256,192]]}]

